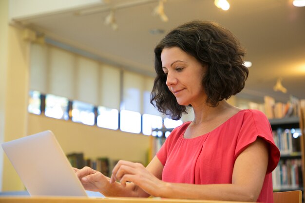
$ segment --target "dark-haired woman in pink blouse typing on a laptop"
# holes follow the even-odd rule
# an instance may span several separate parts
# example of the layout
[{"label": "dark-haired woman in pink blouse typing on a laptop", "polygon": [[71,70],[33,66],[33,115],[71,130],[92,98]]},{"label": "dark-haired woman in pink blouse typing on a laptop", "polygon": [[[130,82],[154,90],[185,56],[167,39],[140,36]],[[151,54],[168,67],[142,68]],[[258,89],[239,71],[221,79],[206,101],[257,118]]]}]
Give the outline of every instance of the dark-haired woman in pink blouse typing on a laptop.
[{"label": "dark-haired woman in pink blouse typing on a laptop", "polygon": [[174,129],[146,168],[119,161],[111,178],[75,169],[84,187],[105,196],[272,203],[280,152],[270,124],[262,112],[226,102],[248,77],[236,37],[214,22],[191,21],[167,34],[154,53],[151,102],[173,119],[191,106],[194,120]]}]

